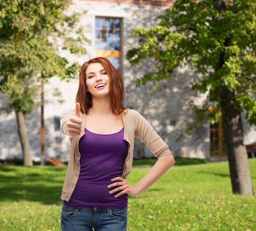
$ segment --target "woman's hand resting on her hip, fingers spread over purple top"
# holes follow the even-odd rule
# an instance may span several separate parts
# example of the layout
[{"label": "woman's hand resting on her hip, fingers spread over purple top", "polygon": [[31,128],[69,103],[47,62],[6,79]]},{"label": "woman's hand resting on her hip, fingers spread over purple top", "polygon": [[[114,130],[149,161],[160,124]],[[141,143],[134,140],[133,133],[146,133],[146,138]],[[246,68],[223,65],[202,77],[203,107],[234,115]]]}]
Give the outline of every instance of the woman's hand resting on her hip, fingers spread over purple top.
[{"label": "woman's hand resting on her hip, fingers spread over purple top", "polygon": [[117,191],[120,191],[117,195],[115,195],[115,198],[123,195],[123,194],[128,194],[130,196],[137,196],[139,193],[136,192],[136,187],[130,185],[126,179],[121,178],[120,176],[115,177],[113,179],[111,179],[111,181],[116,181],[113,184],[108,185],[108,188],[112,188],[112,187],[117,187],[111,191],[109,191],[110,194],[113,194]]}]

